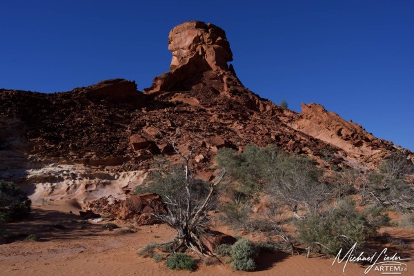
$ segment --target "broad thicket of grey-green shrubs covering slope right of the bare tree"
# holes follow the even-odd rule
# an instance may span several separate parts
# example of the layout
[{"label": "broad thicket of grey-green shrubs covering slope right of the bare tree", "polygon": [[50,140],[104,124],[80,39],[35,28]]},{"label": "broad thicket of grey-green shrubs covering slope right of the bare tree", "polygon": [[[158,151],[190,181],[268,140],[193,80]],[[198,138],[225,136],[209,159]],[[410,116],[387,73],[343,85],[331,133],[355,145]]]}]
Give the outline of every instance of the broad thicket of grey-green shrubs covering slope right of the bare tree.
[{"label": "broad thicket of grey-green shrubs covering slope right of the bare tree", "polygon": [[[250,145],[240,153],[224,148],[216,160],[228,171],[224,195],[230,201],[219,206],[224,220],[245,233],[273,233],[285,244],[282,250],[292,254],[333,255],[355,243],[363,248],[380,226],[389,225],[386,208],[413,210],[407,179],[413,164],[400,153],[365,174],[324,172],[308,157],[279,152],[275,146]],[[254,213],[253,206],[263,210]]]}]

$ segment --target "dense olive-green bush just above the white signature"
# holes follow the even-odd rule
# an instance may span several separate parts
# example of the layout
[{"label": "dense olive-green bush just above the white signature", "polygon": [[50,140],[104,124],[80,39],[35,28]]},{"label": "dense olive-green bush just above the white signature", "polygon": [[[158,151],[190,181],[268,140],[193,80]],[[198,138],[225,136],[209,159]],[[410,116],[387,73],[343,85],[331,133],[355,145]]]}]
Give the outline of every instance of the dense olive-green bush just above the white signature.
[{"label": "dense olive-green bush just above the white signature", "polygon": [[355,242],[362,247],[366,237],[377,234],[377,226],[370,225],[351,200],[339,201],[336,208],[324,213],[309,215],[297,221],[296,226],[299,241],[308,246],[308,252],[318,250],[326,255],[349,249]]}]

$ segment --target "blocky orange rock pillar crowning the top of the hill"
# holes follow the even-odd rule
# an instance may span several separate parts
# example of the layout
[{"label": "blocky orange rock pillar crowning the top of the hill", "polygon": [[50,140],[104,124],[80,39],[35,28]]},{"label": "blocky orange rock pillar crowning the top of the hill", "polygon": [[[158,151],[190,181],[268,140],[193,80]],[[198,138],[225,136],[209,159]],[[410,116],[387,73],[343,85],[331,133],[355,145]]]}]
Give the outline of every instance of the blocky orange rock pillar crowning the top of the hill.
[{"label": "blocky orange rock pillar crowning the top of the hill", "polygon": [[181,82],[186,82],[187,86],[193,84],[208,70],[221,74],[231,72],[227,63],[233,61],[233,54],[226,32],[211,23],[182,23],[170,31],[168,44],[168,50],[172,51],[171,70],[155,77],[152,86],[144,90],[146,92],[188,88]]}]

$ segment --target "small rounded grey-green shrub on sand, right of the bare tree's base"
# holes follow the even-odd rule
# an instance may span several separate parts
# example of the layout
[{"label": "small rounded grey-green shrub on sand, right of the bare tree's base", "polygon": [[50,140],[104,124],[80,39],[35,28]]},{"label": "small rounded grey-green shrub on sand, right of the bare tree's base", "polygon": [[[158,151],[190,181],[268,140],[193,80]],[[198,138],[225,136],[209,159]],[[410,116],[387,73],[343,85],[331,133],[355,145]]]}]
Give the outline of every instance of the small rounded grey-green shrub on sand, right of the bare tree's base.
[{"label": "small rounded grey-green shrub on sand, right of the bare tree's base", "polygon": [[251,271],[257,268],[254,259],[257,256],[257,248],[248,239],[239,239],[230,250],[233,259],[232,268],[235,270]]}]

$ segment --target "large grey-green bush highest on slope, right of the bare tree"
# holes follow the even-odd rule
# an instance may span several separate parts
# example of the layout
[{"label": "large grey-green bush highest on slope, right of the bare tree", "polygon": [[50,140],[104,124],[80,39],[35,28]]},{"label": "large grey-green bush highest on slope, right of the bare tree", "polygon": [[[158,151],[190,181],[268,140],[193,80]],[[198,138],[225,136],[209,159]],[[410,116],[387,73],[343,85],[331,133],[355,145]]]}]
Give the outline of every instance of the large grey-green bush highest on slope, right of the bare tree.
[{"label": "large grey-green bush highest on slope, right of the bare tree", "polygon": [[266,190],[275,201],[282,201],[295,213],[299,208],[315,213],[332,195],[330,186],[323,181],[322,170],[311,159],[279,152],[273,145],[266,148],[248,145],[239,154],[228,148],[220,149],[216,161],[218,166],[226,168],[231,179],[231,185],[226,187],[238,192],[230,193],[228,198],[233,197],[239,205],[246,197]]}]

